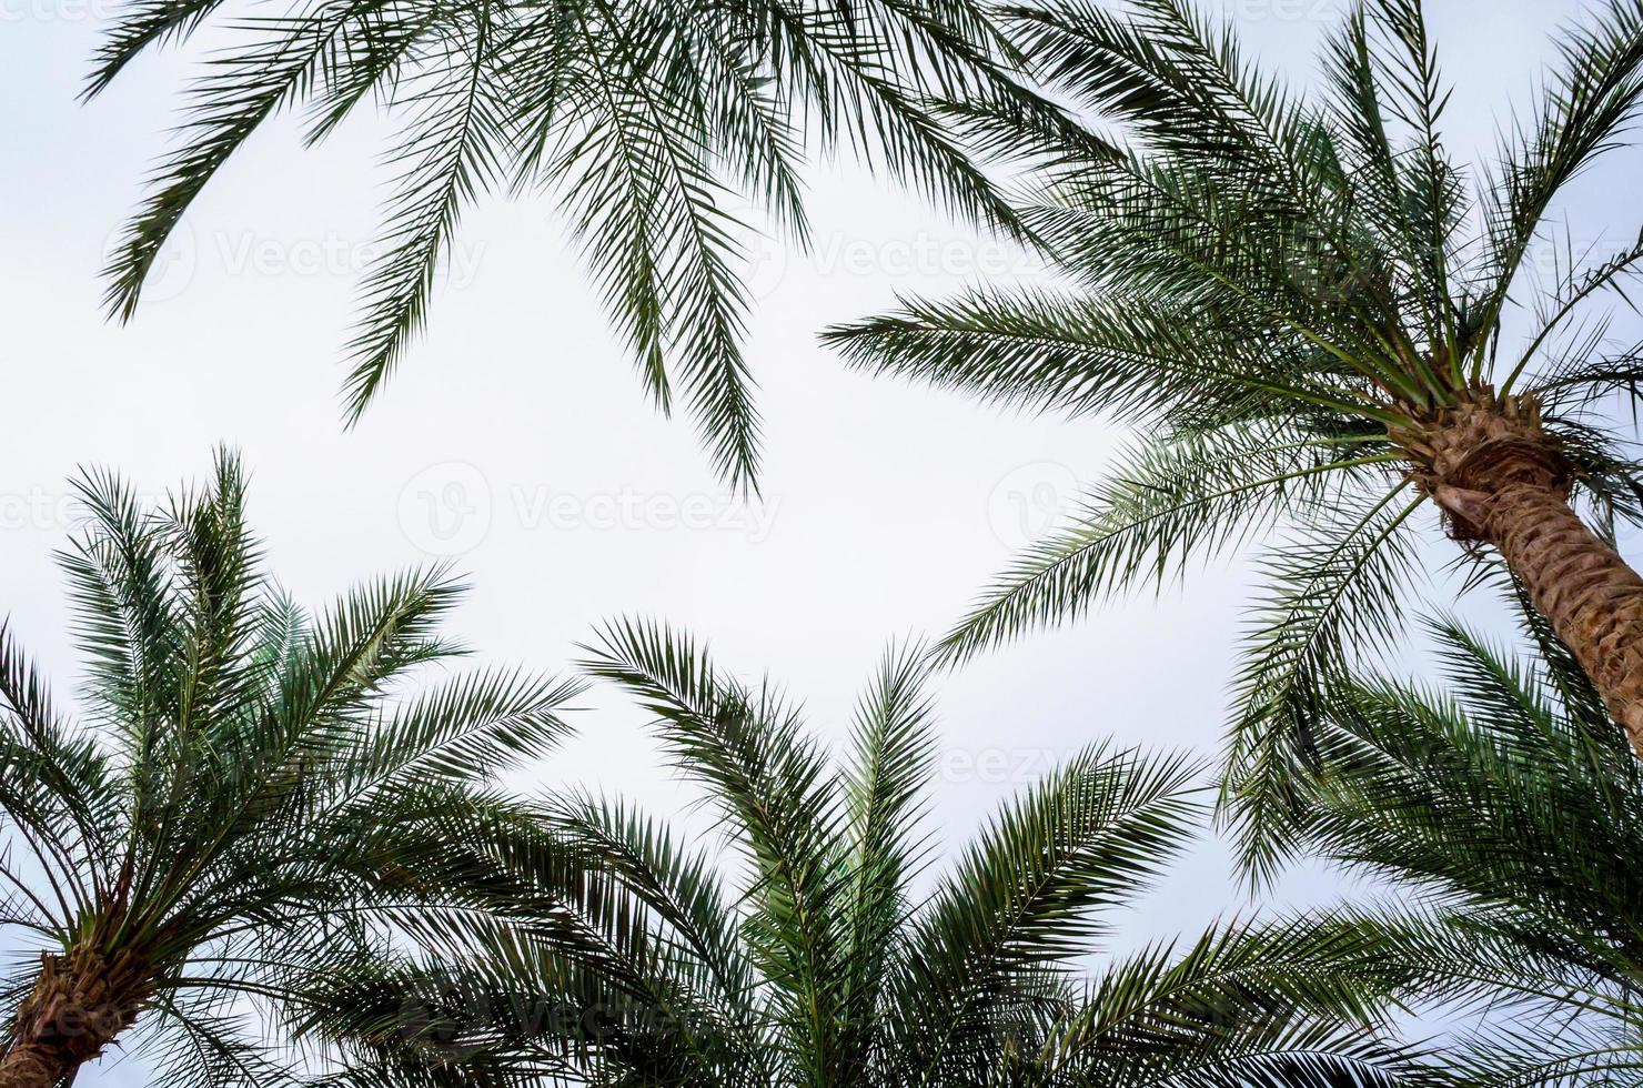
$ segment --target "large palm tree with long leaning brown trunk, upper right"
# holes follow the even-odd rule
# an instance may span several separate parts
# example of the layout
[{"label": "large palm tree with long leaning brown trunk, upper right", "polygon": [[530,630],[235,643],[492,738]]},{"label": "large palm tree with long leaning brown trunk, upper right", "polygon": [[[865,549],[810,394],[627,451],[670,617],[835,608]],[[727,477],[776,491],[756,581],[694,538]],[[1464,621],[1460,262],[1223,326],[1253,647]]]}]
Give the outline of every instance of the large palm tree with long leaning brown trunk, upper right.
[{"label": "large palm tree with long leaning brown trunk, upper right", "polygon": [[1009,12],[1035,71],[1122,140],[1038,148],[1053,161],[1024,217],[1076,289],[914,301],[828,334],[879,373],[1147,436],[945,652],[1270,541],[1231,771],[1259,853],[1254,828],[1309,759],[1321,687],[1400,628],[1436,509],[1469,554],[1498,551],[1643,751],[1643,579],[1613,547],[1615,521],[1643,519],[1643,472],[1599,411],[1643,368],[1592,311],[1643,237],[1599,260],[1559,250],[1556,284],[1530,274],[1554,199],[1638,117],[1643,3],[1607,0],[1569,28],[1535,115],[1474,171],[1443,143],[1449,90],[1420,0],[1355,3],[1316,100],[1190,0],[1129,7]]}]

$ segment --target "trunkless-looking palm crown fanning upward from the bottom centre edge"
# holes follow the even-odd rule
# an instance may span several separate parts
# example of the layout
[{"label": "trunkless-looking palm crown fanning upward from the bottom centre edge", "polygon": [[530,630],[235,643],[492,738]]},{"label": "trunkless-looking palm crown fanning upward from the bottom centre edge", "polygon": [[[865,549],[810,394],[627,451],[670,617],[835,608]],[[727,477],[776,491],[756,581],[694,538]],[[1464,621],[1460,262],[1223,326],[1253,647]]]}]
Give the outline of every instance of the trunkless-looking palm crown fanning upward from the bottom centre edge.
[{"label": "trunkless-looking palm crown fanning upward from the bottom centre edge", "polygon": [[493,929],[488,957],[384,968],[327,1029],[375,1044],[383,1085],[567,1065],[578,1085],[749,1088],[1420,1080],[1370,1030],[1420,971],[1346,919],[1229,922],[1075,970],[1191,835],[1180,756],[1081,751],[927,878],[920,661],[886,656],[835,768],[769,684],[664,626],[606,628],[588,667],[656,715],[731,853],[621,800],[544,802],[508,855],[559,909]]}]

